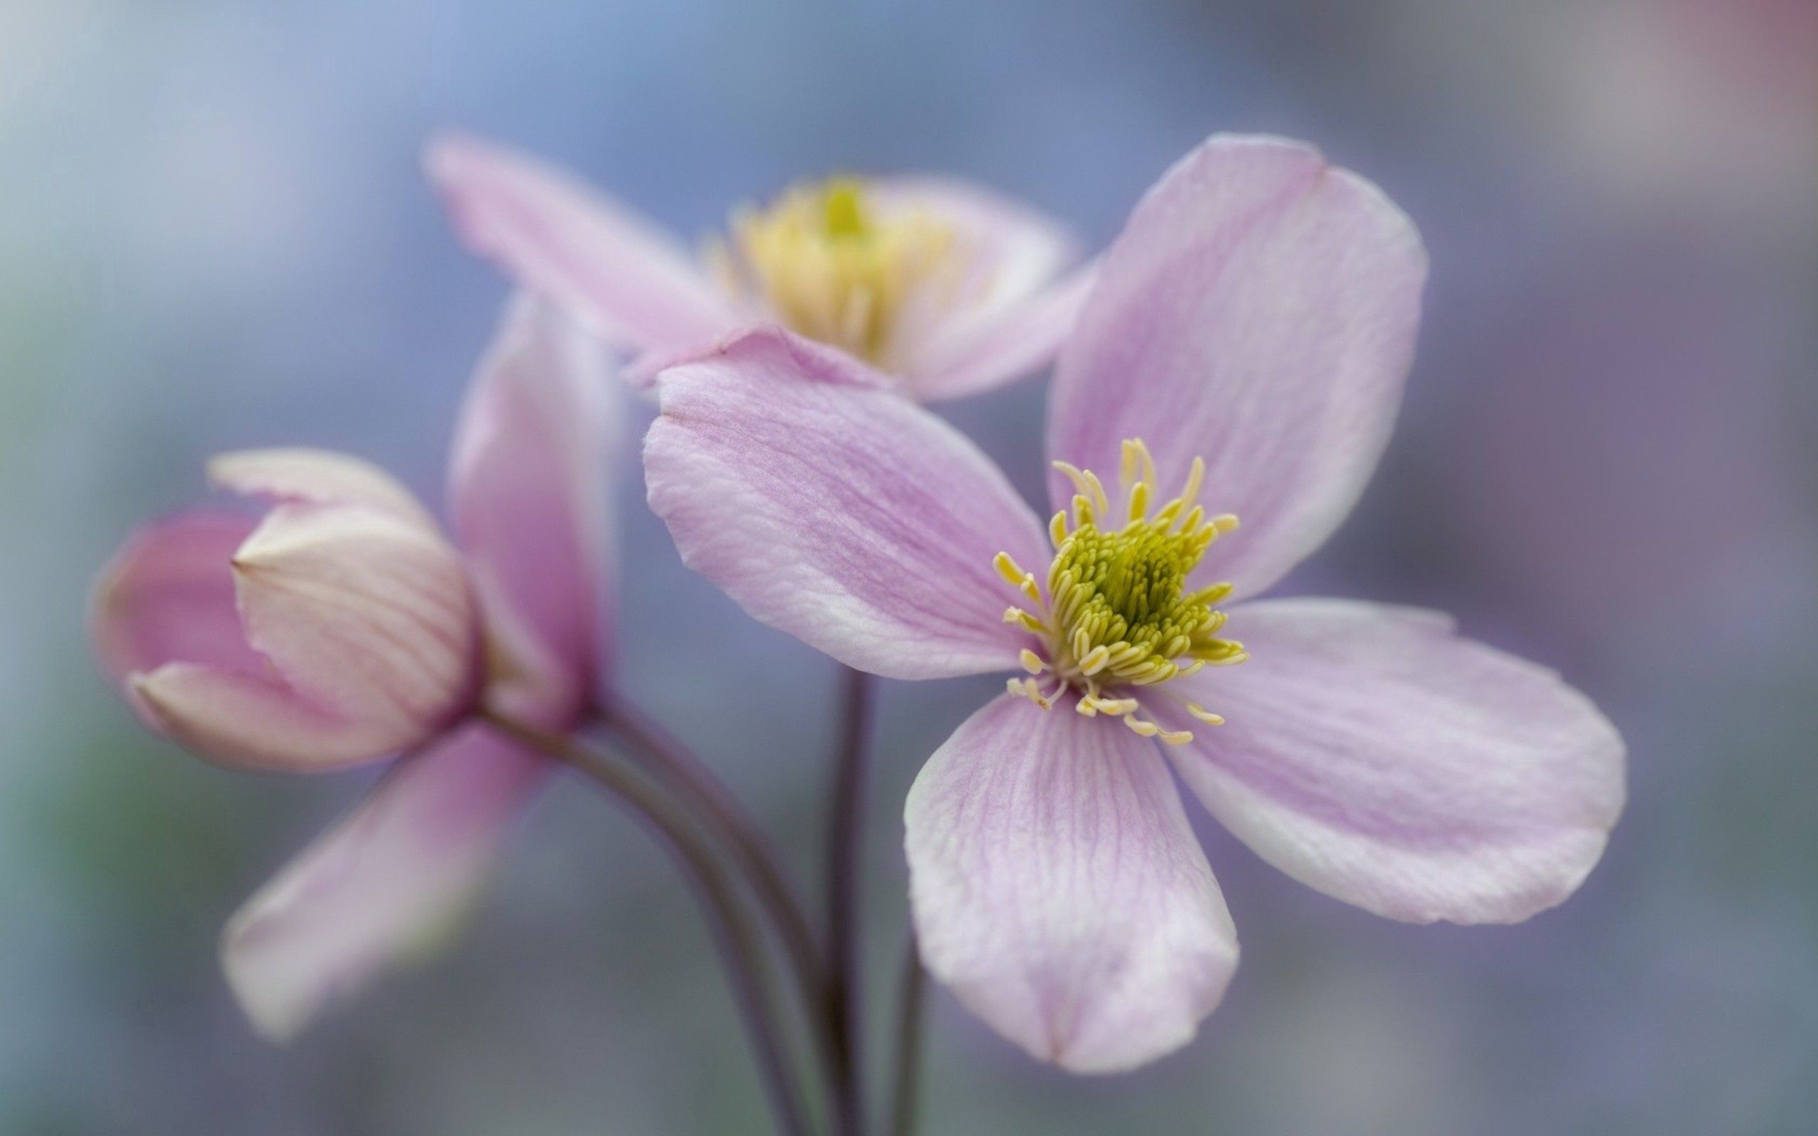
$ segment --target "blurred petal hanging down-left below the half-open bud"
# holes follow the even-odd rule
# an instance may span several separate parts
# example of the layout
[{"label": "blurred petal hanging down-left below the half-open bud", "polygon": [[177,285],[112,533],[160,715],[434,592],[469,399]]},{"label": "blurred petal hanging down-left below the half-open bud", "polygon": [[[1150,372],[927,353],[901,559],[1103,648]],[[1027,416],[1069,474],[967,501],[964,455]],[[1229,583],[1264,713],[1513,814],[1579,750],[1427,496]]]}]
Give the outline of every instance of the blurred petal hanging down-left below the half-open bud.
[{"label": "blurred petal hanging down-left below the half-open bud", "polygon": [[553,767],[469,727],[400,762],[227,923],[222,965],[271,1040],[440,945]]}]

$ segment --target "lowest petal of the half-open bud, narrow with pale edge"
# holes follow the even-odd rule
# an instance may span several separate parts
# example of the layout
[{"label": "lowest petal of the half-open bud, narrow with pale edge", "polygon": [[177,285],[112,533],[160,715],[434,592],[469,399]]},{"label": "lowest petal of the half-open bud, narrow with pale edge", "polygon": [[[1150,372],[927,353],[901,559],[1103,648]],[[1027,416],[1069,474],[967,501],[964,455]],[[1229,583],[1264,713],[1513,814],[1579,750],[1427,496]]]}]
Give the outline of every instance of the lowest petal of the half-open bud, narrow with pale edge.
[{"label": "lowest petal of the half-open bud, narrow with pale edge", "polygon": [[269,673],[173,662],[131,674],[127,687],[151,729],[235,769],[342,769],[398,752],[427,736],[398,722],[327,707]]}]

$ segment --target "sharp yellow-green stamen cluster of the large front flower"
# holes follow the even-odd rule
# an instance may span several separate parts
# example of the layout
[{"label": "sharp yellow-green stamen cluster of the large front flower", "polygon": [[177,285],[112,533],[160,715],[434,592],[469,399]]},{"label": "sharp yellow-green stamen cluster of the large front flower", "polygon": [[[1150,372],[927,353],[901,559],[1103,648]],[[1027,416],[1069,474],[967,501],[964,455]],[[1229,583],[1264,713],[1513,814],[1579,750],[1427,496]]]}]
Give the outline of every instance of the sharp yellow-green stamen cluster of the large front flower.
[{"label": "sharp yellow-green stamen cluster of the large front flower", "polygon": [[[1029,607],[1004,613],[1005,622],[1022,623],[1044,647],[1044,653],[1022,653],[1029,678],[1009,680],[1009,691],[1049,709],[1073,687],[1080,694],[1078,712],[1113,714],[1138,734],[1184,745],[1193,732],[1167,731],[1154,718],[1140,716],[1138,691],[1249,658],[1244,643],[1218,638],[1225,613],[1214,605],[1231,594],[1231,585],[1187,591],[1187,576],[1205,549],[1236,529],[1238,518],[1229,513],[1207,516],[1200,507],[1205,480],[1200,458],[1193,460],[1180,496],[1151,509],[1160,496],[1154,458],[1134,438],[1124,442],[1122,513],[1113,509],[1098,474],[1065,462],[1054,467],[1067,474],[1076,494],[1071,525],[1065,511],[1049,522],[1054,560],[1047,587],[1009,553],[998,553],[993,562],[1029,600]],[[1044,689],[1044,683],[1051,685]],[[1207,725],[1224,722],[1196,702],[1182,700],[1182,705]]]}]

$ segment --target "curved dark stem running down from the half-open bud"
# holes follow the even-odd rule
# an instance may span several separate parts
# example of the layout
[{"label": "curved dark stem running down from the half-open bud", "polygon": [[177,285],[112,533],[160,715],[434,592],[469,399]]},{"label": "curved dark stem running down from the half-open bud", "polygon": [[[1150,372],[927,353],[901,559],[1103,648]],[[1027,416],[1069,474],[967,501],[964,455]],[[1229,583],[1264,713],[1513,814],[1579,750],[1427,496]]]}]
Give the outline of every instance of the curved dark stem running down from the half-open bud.
[{"label": "curved dark stem running down from the half-open bud", "polygon": [[785,1056],[782,1018],[776,1009],[776,992],[771,989],[764,967],[760,932],[700,829],[649,774],[634,765],[567,734],[538,729],[494,711],[480,711],[480,718],[520,745],[551,756],[598,782],[649,823],[676,854],[707,909],[707,922],[720,943],[733,994],[751,1034],[758,1072],[776,1112],[776,1129],[785,1136],[805,1136],[805,1111],[798,1098],[791,1061]]}]

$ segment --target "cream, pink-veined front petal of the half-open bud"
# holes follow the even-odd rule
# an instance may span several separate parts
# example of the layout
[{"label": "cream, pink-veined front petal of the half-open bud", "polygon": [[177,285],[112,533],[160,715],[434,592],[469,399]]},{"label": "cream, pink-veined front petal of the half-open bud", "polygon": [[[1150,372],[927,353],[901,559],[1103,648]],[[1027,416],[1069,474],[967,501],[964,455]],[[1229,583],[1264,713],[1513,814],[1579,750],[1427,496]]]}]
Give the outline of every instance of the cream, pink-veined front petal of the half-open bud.
[{"label": "cream, pink-veined front petal of the half-open bud", "polygon": [[400,747],[471,707],[478,620],[440,534],[364,505],[278,505],[233,569],[247,642],[313,703]]}]

